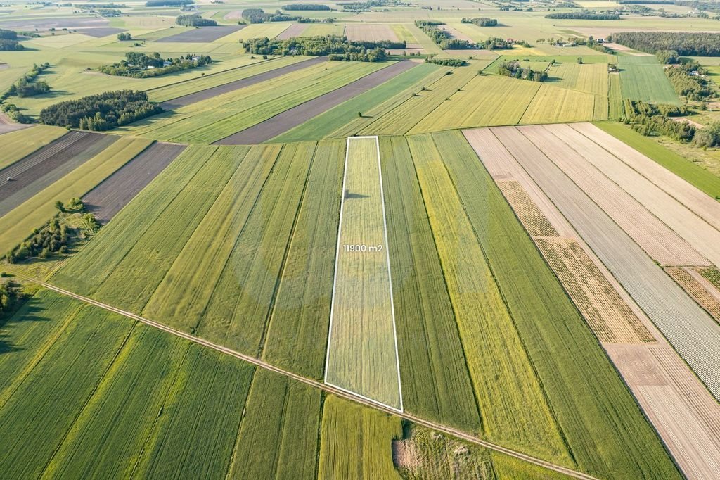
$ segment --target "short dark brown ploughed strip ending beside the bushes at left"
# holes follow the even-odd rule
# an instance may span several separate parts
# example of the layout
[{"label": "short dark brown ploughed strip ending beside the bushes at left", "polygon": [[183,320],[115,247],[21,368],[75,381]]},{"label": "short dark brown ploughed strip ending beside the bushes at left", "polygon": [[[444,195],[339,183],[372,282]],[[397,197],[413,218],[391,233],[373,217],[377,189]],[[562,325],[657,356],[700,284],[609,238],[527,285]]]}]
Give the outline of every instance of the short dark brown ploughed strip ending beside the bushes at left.
[{"label": "short dark brown ploughed strip ending beside the bushes at left", "polygon": [[88,210],[107,223],[186,148],[156,142],[123,165],[83,198]]}]

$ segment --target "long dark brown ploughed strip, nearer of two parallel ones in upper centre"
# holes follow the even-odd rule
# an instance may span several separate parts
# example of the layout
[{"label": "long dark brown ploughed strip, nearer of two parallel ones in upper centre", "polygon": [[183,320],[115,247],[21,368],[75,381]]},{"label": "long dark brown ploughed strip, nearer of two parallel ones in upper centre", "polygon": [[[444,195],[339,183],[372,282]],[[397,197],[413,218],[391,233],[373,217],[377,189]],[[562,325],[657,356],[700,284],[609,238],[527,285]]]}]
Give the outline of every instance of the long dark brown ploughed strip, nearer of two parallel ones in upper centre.
[{"label": "long dark brown ploughed strip, nearer of two parallel ones in upper centre", "polygon": [[312,100],[297,105],[297,107],[285,110],[264,122],[253,125],[245,130],[240,130],[238,133],[233,133],[233,135],[222,138],[214,142],[214,144],[252,145],[255,143],[263,143],[417,65],[418,63],[408,61],[393,63],[351,84],[341,86],[339,89],[320,95],[320,97],[315,97]]}]

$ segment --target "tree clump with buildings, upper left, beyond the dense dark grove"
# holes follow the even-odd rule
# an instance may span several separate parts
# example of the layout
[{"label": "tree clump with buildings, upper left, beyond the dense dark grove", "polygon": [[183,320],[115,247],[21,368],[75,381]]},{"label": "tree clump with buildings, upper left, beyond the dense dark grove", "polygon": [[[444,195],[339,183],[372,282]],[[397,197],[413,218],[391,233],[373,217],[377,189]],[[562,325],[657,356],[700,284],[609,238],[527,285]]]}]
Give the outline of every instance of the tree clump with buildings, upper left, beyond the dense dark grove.
[{"label": "tree clump with buildings, upper left, beyond the dense dark grove", "polygon": [[98,68],[103,74],[115,76],[132,76],[136,79],[147,79],[177,71],[189,70],[212,62],[210,55],[193,55],[188,53],[177,58],[162,58],[159,53],[145,55],[139,52],[125,53],[120,63],[104,65]]}]

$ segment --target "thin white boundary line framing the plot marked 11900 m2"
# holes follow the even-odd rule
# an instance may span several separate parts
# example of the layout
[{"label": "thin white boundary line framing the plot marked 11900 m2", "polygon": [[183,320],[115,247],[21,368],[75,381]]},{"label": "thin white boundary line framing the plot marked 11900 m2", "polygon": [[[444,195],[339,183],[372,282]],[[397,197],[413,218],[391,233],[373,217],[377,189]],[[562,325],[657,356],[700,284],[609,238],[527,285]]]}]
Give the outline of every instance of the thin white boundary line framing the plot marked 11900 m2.
[{"label": "thin white boundary line framing the plot marked 11900 m2", "polygon": [[[328,365],[330,365],[330,339],[333,336],[333,314],[335,314],[335,293],[336,293],[336,285],[338,282],[338,258],[340,257],[340,246],[341,246],[341,232],[343,228],[343,205],[345,203],[345,185],[346,185],[346,179],[348,174],[348,156],[350,154],[350,141],[353,138],[374,138],[375,140],[375,147],[377,148],[377,171],[378,176],[380,180],[380,200],[382,203],[382,225],[383,225],[383,234],[384,234],[384,244],[385,244],[385,259],[387,261],[387,280],[389,283],[390,288],[390,310],[392,313],[392,337],[394,340],[395,345],[395,367],[397,368],[397,390],[398,394],[400,394],[400,409],[397,409],[395,406],[391,406],[388,404],[382,403],[382,401],[377,401],[375,399],[371,399],[367,396],[358,394],[354,391],[348,390],[346,388],[343,388],[341,386],[335,385],[334,383],[328,382]],[[372,401],[374,404],[382,405],[388,409],[395,410],[397,412],[403,412],[403,406],[402,406],[402,385],[400,381],[400,354],[397,351],[397,329],[395,328],[395,301],[392,298],[392,276],[390,274],[390,242],[387,238],[387,218],[385,216],[385,197],[384,192],[382,188],[382,166],[380,165],[380,142],[377,137],[377,135],[366,135],[366,136],[356,136],[356,137],[348,137],[346,144],[345,144],[345,164],[343,166],[343,187],[341,192],[341,200],[340,200],[340,220],[338,221],[338,246],[336,248],[335,252],[335,273],[333,275],[333,297],[332,301],[330,303],[330,326],[328,328],[328,348],[325,352],[325,375],[324,375],[324,381],[330,386],[333,386],[335,388],[338,388],[339,390],[345,391],[348,394],[353,394],[356,396],[359,396],[361,399],[365,399],[366,401]]]}]

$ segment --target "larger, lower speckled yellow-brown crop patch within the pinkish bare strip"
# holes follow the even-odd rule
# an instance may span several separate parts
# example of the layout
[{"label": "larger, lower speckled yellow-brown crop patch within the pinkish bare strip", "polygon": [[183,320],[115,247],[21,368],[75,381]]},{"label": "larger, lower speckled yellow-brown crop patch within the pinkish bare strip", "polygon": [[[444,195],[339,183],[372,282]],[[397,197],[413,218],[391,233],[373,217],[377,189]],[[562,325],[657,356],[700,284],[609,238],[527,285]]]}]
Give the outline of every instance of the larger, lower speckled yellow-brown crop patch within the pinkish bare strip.
[{"label": "larger, lower speckled yellow-brown crop patch within the pinkish bare strip", "polygon": [[577,241],[534,240],[600,342],[654,342],[650,332]]}]

